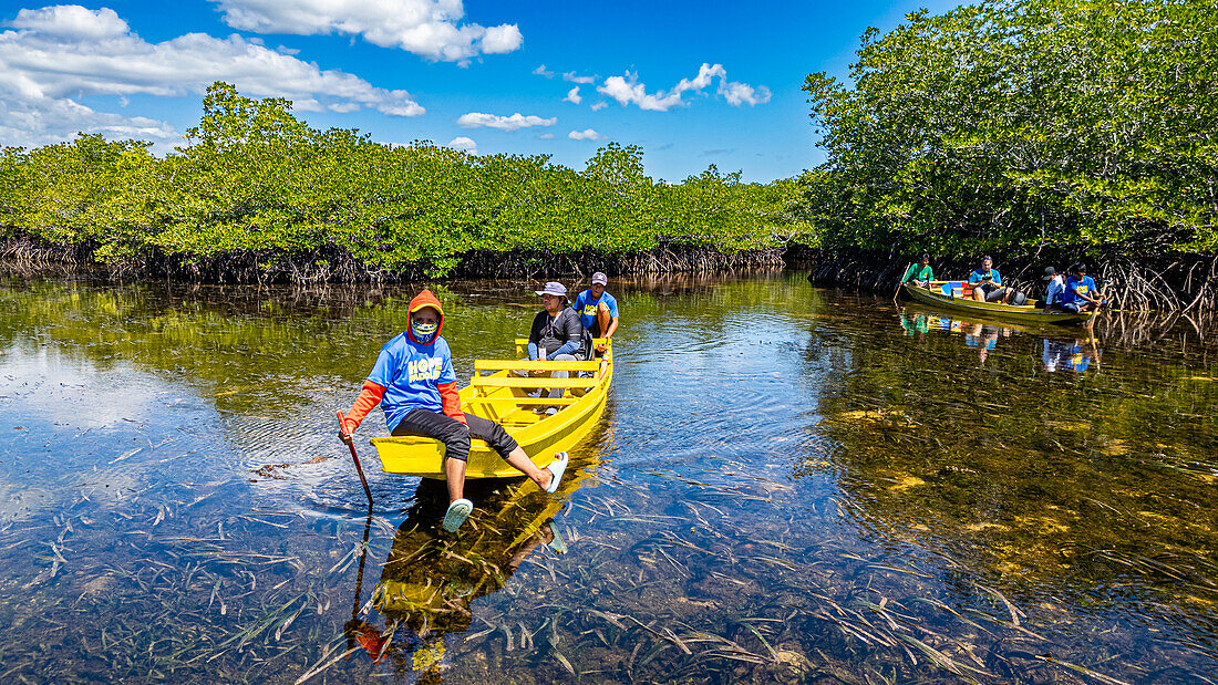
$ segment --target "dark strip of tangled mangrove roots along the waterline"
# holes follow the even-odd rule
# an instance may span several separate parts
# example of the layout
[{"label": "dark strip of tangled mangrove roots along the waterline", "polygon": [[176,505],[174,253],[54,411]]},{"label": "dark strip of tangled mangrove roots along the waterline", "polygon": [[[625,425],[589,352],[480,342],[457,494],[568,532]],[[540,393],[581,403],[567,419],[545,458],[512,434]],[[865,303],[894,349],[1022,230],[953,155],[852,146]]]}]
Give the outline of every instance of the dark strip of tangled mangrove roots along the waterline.
[{"label": "dark strip of tangled mangrove roots along the waterline", "polygon": [[[462,253],[442,277],[428,274],[428,265],[412,264],[389,270],[364,264],[350,253],[331,248],[311,253],[242,252],[188,260],[151,254],[143,262],[105,264],[95,258],[97,245],[55,245],[28,235],[0,241],[0,275],[18,277],[80,277],[99,281],[171,280],[185,283],[228,285],[339,285],[403,283],[452,279],[547,279],[586,276],[604,271],[610,276],[721,274],[754,269],[806,269],[816,286],[842,287],[887,294],[910,263],[910,257],[865,251],[829,251],[798,243],[765,249],[723,252],[706,246],[669,243],[625,253],[474,249]],[[1079,251],[1080,252],[1080,251]],[[1033,293],[1044,266],[1060,271],[1079,252],[1066,248],[1041,254],[1004,257],[995,268],[1004,279]],[[270,262],[273,258],[273,263]],[[1119,309],[1158,311],[1218,310],[1218,254],[1168,253],[1155,257],[1105,256],[1085,258],[1091,275],[1108,283]],[[974,260],[933,259],[935,274],[961,279]],[[269,265],[268,265],[269,264]]]}]

